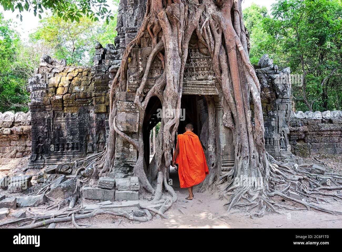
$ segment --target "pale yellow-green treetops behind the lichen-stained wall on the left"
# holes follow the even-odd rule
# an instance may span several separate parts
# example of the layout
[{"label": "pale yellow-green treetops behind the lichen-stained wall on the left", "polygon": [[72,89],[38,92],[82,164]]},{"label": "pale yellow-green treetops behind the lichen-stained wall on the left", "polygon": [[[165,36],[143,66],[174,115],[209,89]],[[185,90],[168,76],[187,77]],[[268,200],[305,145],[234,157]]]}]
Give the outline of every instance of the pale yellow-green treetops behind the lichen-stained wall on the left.
[{"label": "pale yellow-green treetops behind the lichen-stained wall on the left", "polygon": [[[118,0],[114,0],[118,6]],[[65,21],[61,17],[51,15],[40,21],[36,32],[30,35],[32,43],[42,43],[54,49],[53,58],[66,59],[68,65],[92,65],[95,55],[94,44],[114,43],[116,37],[117,10],[113,12],[115,17],[108,24],[92,20],[82,16],[77,21]]]}]

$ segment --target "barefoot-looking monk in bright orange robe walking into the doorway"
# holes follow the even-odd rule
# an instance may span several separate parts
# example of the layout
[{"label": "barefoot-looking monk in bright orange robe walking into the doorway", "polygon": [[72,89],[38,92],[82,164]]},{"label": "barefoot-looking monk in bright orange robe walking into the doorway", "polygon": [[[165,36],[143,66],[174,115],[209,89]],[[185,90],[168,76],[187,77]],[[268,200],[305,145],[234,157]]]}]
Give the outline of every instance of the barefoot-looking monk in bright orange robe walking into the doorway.
[{"label": "barefoot-looking monk in bright orange robe walking into the doorway", "polygon": [[193,133],[194,126],[186,124],[186,132],[177,136],[177,145],[173,154],[172,166],[178,164],[178,175],[181,188],[187,188],[189,196],[194,198],[193,186],[201,183],[209,174],[206,156],[198,136]]}]

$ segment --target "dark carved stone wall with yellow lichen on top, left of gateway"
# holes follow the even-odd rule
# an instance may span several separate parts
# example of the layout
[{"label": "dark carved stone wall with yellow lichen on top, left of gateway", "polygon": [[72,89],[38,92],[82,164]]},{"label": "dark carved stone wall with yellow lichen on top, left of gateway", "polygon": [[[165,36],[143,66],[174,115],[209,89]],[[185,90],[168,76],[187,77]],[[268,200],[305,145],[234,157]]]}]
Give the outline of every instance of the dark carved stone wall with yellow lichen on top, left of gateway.
[{"label": "dark carved stone wall with yellow lichen on top, left of gateway", "polygon": [[101,59],[93,67],[66,66],[65,61],[46,55],[41,58],[27,86],[32,113],[30,167],[69,163],[103,150],[108,135],[109,81],[120,61],[103,62],[102,57],[115,55],[110,51],[113,47],[96,44],[96,56]]}]

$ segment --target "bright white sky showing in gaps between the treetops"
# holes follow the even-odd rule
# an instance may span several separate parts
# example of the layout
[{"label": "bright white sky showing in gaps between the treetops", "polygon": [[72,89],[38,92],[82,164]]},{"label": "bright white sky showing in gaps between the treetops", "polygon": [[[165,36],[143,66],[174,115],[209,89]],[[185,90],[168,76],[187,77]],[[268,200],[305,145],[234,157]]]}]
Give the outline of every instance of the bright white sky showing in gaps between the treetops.
[{"label": "bright white sky showing in gaps between the treetops", "polygon": [[[242,1],[242,9],[249,7],[252,3],[256,3],[259,5],[264,5],[267,7],[268,11],[271,10],[271,4],[275,3],[276,0],[243,0]],[[115,8],[114,5],[111,3],[110,0],[107,0],[107,4]],[[109,9],[109,8],[108,8]],[[17,12],[12,13],[11,11],[4,11],[3,7],[0,7],[0,12],[3,13],[5,19],[12,19],[14,22],[13,28],[16,29],[20,34],[23,40],[28,39],[28,35],[34,32],[34,29],[39,26],[39,18],[38,15],[35,17],[33,12],[22,12],[23,21],[21,22],[19,19],[16,18]],[[44,12],[42,17],[45,17],[48,12]]]}]

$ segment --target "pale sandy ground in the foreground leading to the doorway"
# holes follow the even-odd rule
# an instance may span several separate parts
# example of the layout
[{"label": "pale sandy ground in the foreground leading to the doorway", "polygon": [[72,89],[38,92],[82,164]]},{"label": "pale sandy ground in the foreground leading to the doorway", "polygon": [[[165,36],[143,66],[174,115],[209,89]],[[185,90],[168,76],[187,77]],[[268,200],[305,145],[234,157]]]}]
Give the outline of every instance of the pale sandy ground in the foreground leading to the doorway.
[{"label": "pale sandy ground in the foreground leading to the doorway", "polygon": [[[340,170],[342,166],[337,166]],[[187,189],[179,187],[178,173],[170,169],[173,188],[178,194],[178,201],[166,212],[169,219],[154,216],[151,221],[139,223],[126,218],[111,215],[99,215],[90,219],[78,220],[78,223],[88,224],[84,228],[342,228],[342,216],[319,212],[283,210],[280,214],[268,212],[262,218],[250,218],[247,213],[230,214],[220,217],[225,212],[224,201],[210,191],[197,193],[194,187],[194,200],[185,200]],[[278,199],[281,201],[281,199]],[[342,212],[342,201],[333,201],[323,206]],[[303,208],[291,202],[282,202],[289,206]],[[22,210],[18,208],[16,211]],[[32,212],[43,214],[42,208],[31,208]],[[56,211],[57,212],[57,211]],[[49,211],[51,213],[51,211]],[[9,220],[10,217],[2,220]],[[29,223],[26,223],[29,224]],[[18,224],[11,225],[15,227]],[[6,226],[9,227],[9,226]],[[1,228],[1,227],[0,227]],[[74,228],[71,223],[57,224],[56,228]]]}]

